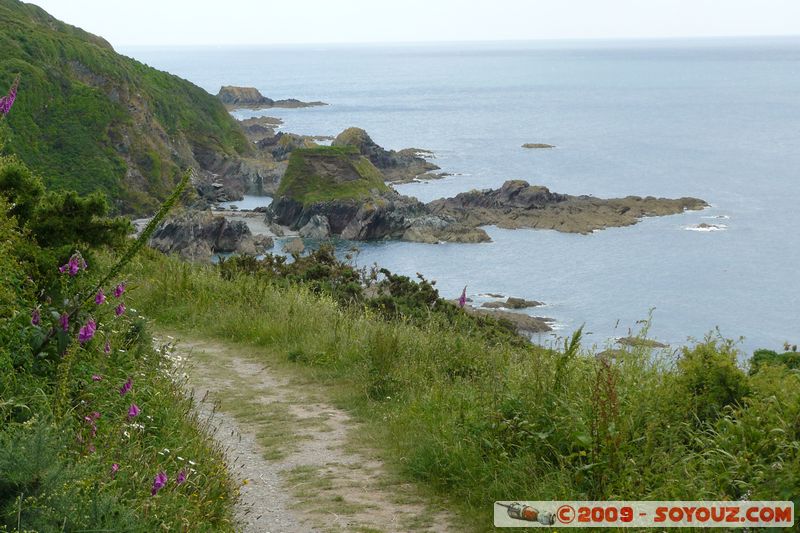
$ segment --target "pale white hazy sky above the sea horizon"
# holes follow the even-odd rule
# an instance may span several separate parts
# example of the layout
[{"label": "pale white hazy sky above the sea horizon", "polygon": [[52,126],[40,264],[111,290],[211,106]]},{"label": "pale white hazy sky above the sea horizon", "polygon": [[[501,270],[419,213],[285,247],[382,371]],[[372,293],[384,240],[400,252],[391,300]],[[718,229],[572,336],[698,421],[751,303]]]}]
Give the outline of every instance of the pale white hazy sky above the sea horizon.
[{"label": "pale white hazy sky above the sea horizon", "polygon": [[800,0],[34,0],[115,46],[800,35]]}]

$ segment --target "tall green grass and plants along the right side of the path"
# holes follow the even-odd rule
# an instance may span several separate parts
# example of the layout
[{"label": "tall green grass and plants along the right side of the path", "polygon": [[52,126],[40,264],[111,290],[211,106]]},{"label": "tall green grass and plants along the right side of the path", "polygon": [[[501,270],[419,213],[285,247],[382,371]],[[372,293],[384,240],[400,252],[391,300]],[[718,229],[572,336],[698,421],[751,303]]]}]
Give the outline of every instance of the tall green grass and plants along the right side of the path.
[{"label": "tall green grass and plants along the right side of the path", "polygon": [[390,466],[474,523],[489,524],[502,499],[800,494],[800,375],[748,376],[722,340],[607,359],[576,342],[472,338],[433,315],[386,321],[302,286],[156,255],[136,278],[157,323],[262,348],[327,384]]}]

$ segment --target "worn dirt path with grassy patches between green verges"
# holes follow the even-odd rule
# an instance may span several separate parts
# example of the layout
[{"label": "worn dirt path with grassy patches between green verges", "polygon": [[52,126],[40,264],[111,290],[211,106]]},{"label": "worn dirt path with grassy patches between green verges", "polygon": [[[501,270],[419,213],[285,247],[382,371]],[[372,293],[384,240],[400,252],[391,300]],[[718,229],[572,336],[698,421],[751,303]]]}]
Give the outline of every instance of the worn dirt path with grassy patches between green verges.
[{"label": "worn dirt path with grassy patches between green verges", "polygon": [[448,531],[443,513],[387,473],[350,416],[257,350],[176,335],[190,386],[243,483],[246,532]]}]

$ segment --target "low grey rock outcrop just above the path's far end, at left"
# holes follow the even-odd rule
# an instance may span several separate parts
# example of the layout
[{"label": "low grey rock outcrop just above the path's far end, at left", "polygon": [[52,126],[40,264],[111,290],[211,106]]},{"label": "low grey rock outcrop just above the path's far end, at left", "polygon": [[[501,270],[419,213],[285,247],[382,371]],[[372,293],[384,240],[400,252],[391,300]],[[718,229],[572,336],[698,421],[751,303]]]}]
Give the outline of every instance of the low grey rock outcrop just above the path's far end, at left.
[{"label": "low grey rock outcrop just above the path's far end, at left", "polygon": [[149,244],[196,262],[208,262],[215,253],[257,255],[273,246],[269,237],[254,237],[244,222],[230,222],[211,211],[191,210],[163,222]]}]

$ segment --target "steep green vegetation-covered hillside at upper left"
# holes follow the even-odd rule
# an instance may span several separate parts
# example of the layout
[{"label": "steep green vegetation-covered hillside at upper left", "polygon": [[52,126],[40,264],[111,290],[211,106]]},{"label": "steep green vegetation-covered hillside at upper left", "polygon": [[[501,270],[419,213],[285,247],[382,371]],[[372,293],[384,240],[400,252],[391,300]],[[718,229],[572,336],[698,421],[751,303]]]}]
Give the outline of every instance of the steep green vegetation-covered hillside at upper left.
[{"label": "steep green vegetation-covered hillside at upper left", "polygon": [[3,136],[49,187],[101,190],[115,210],[152,210],[179,168],[250,146],[223,105],[177,76],[121,56],[32,4],[0,0],[0,90],[21,75]]}]

